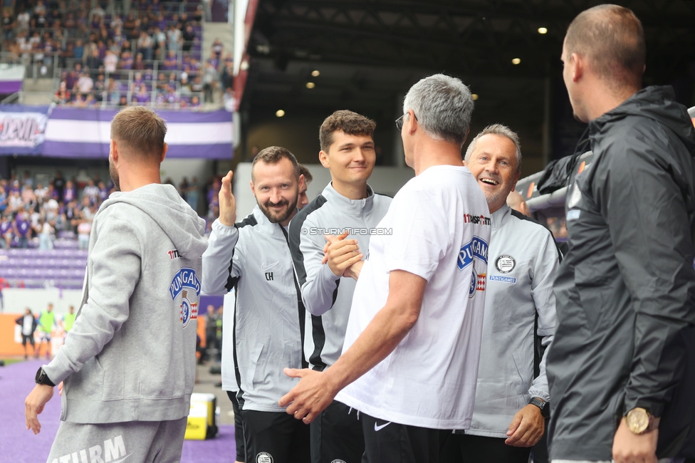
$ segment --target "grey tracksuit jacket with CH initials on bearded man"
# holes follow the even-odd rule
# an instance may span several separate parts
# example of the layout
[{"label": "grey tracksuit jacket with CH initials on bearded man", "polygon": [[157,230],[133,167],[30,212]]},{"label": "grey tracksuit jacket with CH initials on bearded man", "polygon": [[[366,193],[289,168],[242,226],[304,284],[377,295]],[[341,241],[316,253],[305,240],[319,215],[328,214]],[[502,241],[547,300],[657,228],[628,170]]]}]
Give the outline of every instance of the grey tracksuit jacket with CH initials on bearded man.
[{"label": "grey tracksuit jacket with CH initials on bearded man", "polygon": [[[239,405],[244,410],[283,412],[278,400],[298,383],[283,368],[302,368],[304,306],[295,281],[286,231],[256,206],[234,227],[212,224],[203,254],[203,293],[236,288],[234,358],[222,349],[222,363],[234,365]],[[226,387],[232,389],[232,387]]]}]

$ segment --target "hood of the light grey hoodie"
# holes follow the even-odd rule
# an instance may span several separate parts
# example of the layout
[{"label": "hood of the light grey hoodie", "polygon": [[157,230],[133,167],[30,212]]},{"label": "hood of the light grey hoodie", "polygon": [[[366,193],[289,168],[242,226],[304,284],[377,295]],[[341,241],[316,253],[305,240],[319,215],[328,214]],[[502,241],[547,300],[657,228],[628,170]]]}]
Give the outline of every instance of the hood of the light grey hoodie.
[{"label": "hood of the light grey hoodie", "polygon": [[200,256],[207,248],[205,220],[198,217],[172,185],[152,183],[131,192],[112,193],[99,212],[122,202],[152,217],[181,256]]}]

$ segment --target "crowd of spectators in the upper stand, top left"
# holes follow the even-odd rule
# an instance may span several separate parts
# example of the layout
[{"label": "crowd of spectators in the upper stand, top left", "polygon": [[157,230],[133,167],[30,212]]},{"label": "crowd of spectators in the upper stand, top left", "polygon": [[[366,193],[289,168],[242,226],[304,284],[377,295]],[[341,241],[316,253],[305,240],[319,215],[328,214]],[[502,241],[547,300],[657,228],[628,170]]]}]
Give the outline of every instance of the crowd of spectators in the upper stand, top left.
[{"label": "crowd of spectators in the upper stand, top left", "polygon": [[200,1],[132,0],[127,11],[125,2],[103,0],[4,5],[3,51],[45,75],[56,67],[58,104],[198,108],[233,95],[233,61],[221,41],[202,62]]}]

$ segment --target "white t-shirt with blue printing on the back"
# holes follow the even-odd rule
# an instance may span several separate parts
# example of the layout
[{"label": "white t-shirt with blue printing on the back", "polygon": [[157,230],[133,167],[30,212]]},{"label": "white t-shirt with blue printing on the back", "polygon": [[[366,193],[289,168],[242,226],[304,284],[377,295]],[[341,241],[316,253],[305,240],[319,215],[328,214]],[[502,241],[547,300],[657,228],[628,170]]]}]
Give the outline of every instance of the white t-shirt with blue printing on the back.
[{"label": "white t-shirt with blue printing on the back", "polygon": [[422,309],[394,351],[337,400],[402,425],[470,427],[491,234],[488,211],[463,166],[429,167],[396,194],[377,225],[382,231],[370,239],[343,352],[385,306],[390,271],[427,280]]}]

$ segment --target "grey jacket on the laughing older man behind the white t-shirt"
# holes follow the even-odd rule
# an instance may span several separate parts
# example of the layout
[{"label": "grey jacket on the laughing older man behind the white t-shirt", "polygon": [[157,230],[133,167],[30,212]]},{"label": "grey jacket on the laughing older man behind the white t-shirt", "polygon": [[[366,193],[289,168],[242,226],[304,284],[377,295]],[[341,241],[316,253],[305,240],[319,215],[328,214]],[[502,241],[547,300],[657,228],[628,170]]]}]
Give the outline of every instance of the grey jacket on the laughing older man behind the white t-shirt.
[{"label": "grey jacket on the laughing older man behind the white t-shirt", "polygon": [[534,349],[536,335],[547,347],[555,333],[553,281],[560,254],[548,229],[506,204],[491,220],[476,405],[466,434],[506,438],[514,415],[531,397],[550,400],[548,349],[535,378]]}]

